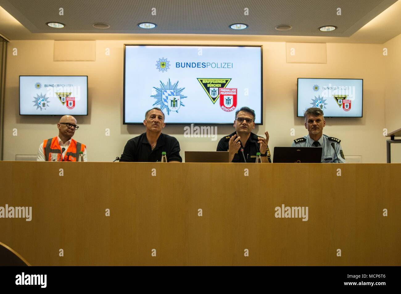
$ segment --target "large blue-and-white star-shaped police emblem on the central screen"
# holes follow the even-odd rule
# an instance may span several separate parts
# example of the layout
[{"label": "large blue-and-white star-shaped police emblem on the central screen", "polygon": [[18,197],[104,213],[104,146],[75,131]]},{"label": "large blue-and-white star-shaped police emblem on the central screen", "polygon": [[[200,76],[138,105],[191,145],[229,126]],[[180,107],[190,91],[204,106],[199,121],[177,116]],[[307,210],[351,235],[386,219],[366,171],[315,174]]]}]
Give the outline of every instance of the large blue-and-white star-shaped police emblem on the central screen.
[{"label": "large blue-and-white star-shaped police emblem on the central screen", "polygon": [[153,106],[157,105],[161,110],[166,109],[167,114],[170,114],[170,111],[178,112],[180,106],[185,106],[182,99],[187,98],[187,96],[181,93],[185,88],[178,88],[178,81],[175,84],[171,84],[170,79],[168,79],[167,84],[160,81],[160,87],[153,88],[156,90],[156,95],[150,96],[156,99]]}]

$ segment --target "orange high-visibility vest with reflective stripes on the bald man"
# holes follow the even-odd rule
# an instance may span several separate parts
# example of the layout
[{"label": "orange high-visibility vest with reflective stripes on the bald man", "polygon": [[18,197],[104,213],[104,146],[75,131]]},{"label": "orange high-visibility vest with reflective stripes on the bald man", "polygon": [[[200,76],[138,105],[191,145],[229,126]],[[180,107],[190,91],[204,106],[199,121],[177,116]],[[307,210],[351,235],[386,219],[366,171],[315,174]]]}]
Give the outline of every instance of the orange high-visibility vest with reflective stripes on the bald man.
[{"label": "orange high-visibility vest with reflective stripes on the bald man", "polygon": [[[61,147],[57,136],[43,141],[43,153],[46,161],[78,161],[79,151],[85,150],[85,145],[74,139],[70,139],[70,145],[63,158],[61,157]],[[57,154],[57,155],[56,155]],[[56,157],[57,156],[57,157]],[[53,157],[53,159],[52,159]],[[56,159],[57,158],[57,159]]]}]

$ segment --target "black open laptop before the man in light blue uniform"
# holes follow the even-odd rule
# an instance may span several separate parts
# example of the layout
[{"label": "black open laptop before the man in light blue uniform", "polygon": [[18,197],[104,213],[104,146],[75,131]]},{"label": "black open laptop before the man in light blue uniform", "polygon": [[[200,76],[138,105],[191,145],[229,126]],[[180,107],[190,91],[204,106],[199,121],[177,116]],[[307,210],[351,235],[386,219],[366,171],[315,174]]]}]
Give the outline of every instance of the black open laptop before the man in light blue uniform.
[{"label": "black open laptop before the man in light blue uniform", "polygon": [[274,147],[273,162],[320,163],[322,147]]}]

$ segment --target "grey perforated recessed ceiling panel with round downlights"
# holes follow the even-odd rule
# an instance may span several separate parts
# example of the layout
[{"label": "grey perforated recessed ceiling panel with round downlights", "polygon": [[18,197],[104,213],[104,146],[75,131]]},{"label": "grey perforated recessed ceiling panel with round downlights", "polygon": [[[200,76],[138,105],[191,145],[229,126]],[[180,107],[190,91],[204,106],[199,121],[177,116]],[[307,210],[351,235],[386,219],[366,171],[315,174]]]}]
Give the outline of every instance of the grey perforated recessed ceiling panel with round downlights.
[{"label": "grey perforated recessed ceiling panel with round downlights", "polygon": [[[396,0],[0,0],[0,5],[32,33],[198,33],[349,37]],[[341,8],[342,15],[336,14]],[[59,8],[64,15],[59,15]],[[156,8],[156,15],[152,15]],[[249,8],[249,15],[244,15]],[[53,29],[46,22],[62,22]],[[144,30],[140,22],[157,27]],[[108,29],[92,24],[105,22]],[[242,31],[229,28],[245,23]],[[289,24],[289,31],[277,31]],[[335,25],[334,32],[319,27]]]}]

